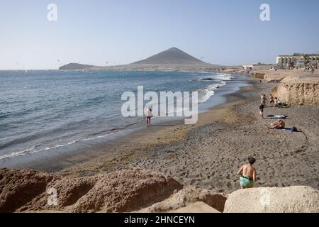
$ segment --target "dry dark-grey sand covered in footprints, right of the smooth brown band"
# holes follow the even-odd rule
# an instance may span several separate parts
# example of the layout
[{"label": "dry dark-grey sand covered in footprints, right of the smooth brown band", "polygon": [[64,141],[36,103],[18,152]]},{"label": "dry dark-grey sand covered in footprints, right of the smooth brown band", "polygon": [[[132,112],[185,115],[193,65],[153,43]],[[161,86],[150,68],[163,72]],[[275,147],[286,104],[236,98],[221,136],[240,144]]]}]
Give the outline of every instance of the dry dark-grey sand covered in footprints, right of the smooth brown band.
[{"label": "dry dark-grey sand covered in footprints, right of the smooth brown band", "polygon": [[254,101],[230,107],[240,121],[196,128],[186,140],[151,150],[150,159],[135,166],[164,172],[184,184],[229,193],[240,188],[237,170],[252,155],[257,159],[256,187],[308,185],[318,189],[318,107],[266,108],[266,116],[288,115],[286,127],[296,126],[302,132],[269,130],[267,126],[276,120],[260,119],[259,93],[241,92]]}]

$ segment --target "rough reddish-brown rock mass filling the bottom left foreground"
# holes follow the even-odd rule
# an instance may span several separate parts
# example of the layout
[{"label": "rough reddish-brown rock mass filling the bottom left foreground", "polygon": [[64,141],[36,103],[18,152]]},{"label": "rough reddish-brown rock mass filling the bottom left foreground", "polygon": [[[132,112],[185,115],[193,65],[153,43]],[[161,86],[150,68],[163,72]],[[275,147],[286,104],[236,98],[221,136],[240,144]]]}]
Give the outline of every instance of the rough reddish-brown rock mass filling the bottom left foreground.
[{"label": "rough reddish-brown rock mass filling the bottom left foreground", "polygon": [[[57,206],[47,189],[57,190]],[[0,170],[0,211],[126,212],[169,197],[182,185],[147,170],[121,170],[94,177],[57,177],[33,170]]]}]

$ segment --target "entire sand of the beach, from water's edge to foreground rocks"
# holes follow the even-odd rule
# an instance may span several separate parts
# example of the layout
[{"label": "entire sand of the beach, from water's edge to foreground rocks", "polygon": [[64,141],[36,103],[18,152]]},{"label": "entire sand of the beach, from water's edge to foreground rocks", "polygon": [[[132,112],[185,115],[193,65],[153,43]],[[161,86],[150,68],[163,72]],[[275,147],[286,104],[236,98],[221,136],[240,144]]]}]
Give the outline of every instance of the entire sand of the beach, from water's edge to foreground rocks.
[{"label": "entire sand of the beach, from water's edge to foreground rocks", "polygon": [[237,170],[248,156],[257,159],[256,187],[308,185],[317,188],[319,173],[319,109],[294,106],[265,108],[264,114],[284,114],[286,127],[302,132],[269,130],[272,118],[260,119],[259,96],[278,84],[259,84],[228,95],[228,102],[183,121],[145,128],[118,138],[94,152],[47,160],[28,168],[74,177],[141,167],[170,175],[186,185],[216,192],[239,189]]}]

